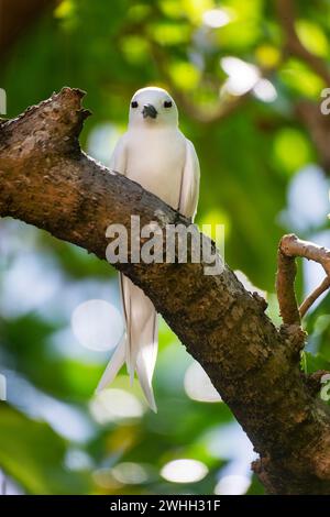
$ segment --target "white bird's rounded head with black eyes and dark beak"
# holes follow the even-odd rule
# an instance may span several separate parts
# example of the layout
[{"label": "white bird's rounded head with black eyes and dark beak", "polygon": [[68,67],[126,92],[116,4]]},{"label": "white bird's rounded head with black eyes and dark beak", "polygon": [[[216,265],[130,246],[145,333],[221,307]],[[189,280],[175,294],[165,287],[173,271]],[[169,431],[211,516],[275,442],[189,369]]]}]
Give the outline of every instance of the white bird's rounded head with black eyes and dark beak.
[{"label": "white bird's rounded head with black eyes and dark beak", "polygon": [[130,107],[130,125],[162,127],[178,124],[176,103],[163,88],[150,86],[135,91]]}]

